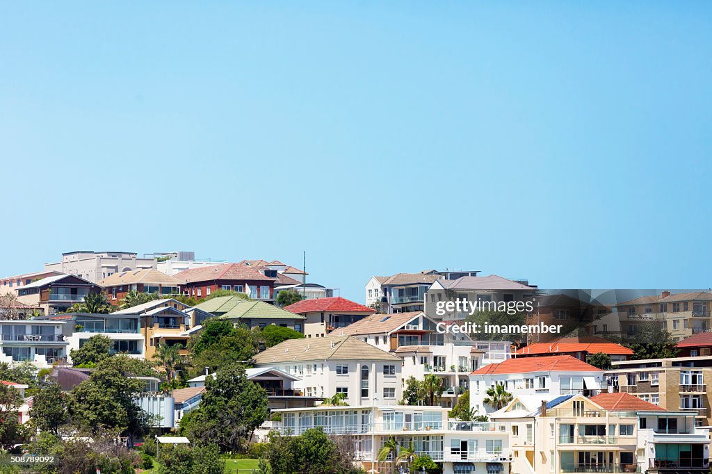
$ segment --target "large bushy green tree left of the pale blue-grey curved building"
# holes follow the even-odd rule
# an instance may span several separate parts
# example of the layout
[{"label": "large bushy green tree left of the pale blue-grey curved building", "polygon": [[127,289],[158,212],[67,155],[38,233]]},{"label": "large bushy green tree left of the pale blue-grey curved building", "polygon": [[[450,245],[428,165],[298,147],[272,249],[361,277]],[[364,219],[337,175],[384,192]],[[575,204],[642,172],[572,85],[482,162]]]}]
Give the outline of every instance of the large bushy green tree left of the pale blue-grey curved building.
[{"label": "large bushy green tree left of the pale blue-grey curved building", "polygon": [[147,362],[123,354],[101,360],[89,379],[70,392],[72,420],[90,433],[104,428],[115,428],[132,438],[144,433],[150,419],[134,401],[144,390],[144,381],[129,374],[155,376],[155,371]]}]

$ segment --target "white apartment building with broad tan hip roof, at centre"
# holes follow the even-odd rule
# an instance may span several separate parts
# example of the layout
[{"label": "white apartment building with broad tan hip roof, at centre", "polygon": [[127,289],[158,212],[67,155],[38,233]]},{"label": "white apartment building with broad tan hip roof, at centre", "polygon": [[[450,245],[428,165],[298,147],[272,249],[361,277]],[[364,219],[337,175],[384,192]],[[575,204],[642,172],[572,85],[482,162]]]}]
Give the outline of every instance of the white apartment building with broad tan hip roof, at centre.
[{"label": "white apartment building with broad tan hip roof, at centre", "polygon": [[351,406],[395,405],[402,399],[402,359],[350,336],[290,339],[254,357],[298,377],[293,389],[307,397],[345,394]]}]

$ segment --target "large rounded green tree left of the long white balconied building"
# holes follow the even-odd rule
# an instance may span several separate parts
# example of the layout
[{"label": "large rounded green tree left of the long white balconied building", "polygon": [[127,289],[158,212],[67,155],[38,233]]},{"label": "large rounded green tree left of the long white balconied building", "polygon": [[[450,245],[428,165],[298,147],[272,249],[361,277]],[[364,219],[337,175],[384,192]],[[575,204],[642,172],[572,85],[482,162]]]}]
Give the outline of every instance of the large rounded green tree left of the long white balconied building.
[{"label": "large rounded green tree left of the long white balconied building", "polygon": [[231,364],[206,377],[203,399],[181,420],[180,431],[217,443],[222,451],[237,451],[267,416],[267,392],[249,381],[242,367]]}]

